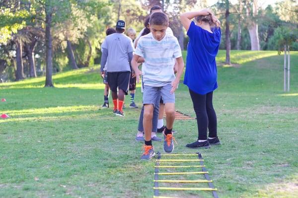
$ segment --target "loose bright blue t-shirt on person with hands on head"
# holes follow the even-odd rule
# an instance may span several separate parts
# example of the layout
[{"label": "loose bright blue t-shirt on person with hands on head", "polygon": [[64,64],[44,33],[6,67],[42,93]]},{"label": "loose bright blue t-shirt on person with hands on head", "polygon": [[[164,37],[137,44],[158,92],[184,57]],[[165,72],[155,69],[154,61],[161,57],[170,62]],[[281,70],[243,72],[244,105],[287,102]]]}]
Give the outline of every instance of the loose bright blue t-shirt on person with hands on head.
[{"label": "loose bright blue t-shirt on person with hands on head", "polygon": [[191,22],[187,35],[186,70],[184,84],[200,94],[206,94],[218,87],[216,55],[221,42],[221,29],[212,32]]}]

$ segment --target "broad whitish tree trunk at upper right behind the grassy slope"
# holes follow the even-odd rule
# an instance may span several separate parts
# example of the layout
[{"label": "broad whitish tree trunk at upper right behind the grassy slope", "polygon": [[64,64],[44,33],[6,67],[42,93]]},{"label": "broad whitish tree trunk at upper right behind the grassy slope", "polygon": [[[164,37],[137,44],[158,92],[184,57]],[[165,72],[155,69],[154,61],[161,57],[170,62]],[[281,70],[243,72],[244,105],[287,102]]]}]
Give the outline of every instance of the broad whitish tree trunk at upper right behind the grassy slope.
[{"label": "broad whitish tree trunk at upper right behind the grassy slope", "polygon": [[[247,15],[250,14],[250,11],[251,11],[251,9],[250,9],[249,5],[247,5],[246,6]],[[253,0],[252,17],[255,17],[257,15],[257,13],[258,13],[257,0]],[[259,44],[257,20],[256,19],[251,19],[248,22],[247,28],[248,28],[249,38],[250,38],[251,50],[259,51],[260,50],[260,44]]]}]

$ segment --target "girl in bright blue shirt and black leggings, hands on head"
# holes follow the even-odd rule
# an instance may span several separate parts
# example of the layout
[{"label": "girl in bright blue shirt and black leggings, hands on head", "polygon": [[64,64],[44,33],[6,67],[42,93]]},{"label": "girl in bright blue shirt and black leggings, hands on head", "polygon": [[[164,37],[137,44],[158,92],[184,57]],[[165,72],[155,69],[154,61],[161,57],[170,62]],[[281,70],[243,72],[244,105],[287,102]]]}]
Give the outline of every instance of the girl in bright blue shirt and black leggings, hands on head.
[{"label": "girl in bright blue shirt and black leggings, hands on head", "polygon": [[212,98],[218,87],[215,57],[221,42],[221,23],[209,9],[181,14],[180,20],[189,36],[184,84],[189,88],[199,133],[198,140],[186,147],[210,148],[210,144],[220,144]]}]

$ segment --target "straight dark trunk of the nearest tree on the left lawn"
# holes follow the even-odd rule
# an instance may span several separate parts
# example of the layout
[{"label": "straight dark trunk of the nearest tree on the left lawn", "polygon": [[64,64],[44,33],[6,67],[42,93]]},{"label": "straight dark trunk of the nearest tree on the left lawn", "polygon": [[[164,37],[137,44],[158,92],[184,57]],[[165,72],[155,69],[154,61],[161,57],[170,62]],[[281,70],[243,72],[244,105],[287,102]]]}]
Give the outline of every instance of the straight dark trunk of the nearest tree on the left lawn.
[{"label": "straight dark trunk of the nearest tree on the left lawn", "polygon": [[52,12],[46,8],[46,84],[45,87],[54,87],[52,82],[52,36],[51,36]]}]

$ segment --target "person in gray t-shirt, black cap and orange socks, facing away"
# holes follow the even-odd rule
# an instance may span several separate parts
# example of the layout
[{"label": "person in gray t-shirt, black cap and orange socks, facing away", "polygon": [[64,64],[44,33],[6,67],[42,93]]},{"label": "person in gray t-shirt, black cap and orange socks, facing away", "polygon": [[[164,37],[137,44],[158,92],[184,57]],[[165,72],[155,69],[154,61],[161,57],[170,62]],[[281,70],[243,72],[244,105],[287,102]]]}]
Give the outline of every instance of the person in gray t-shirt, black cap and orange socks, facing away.
[{"label": "person in gray t-shirt, black cap and orange socks, facing away", "polygon": [[[125,21],[119,20],[116,24],[116,33],[106,37],[102,43],[102,56],[100,71],[104,74],[107,64],[108,83],[112,91],[114,103],[113,113],[116,116],[125,116],[123,113],[124,95],[128,93],[131,75],[130,62],[133,58],[133,41],[124,35]],[[117,94],[118,88],[118,94]]]}]

